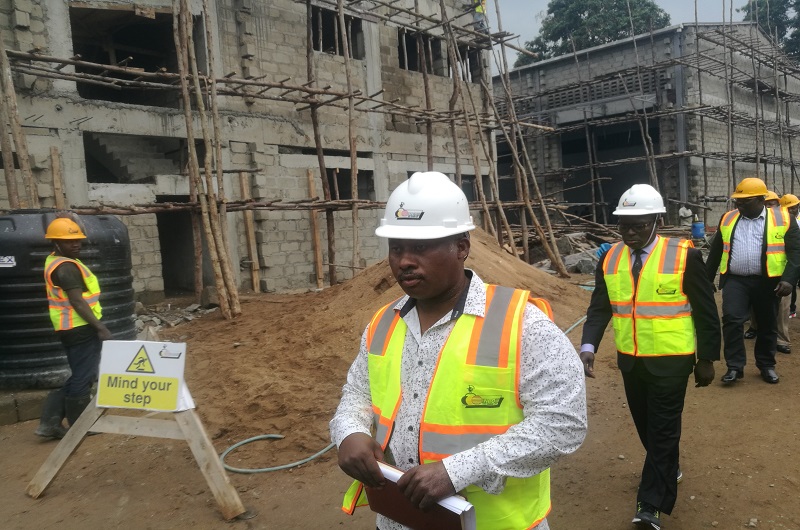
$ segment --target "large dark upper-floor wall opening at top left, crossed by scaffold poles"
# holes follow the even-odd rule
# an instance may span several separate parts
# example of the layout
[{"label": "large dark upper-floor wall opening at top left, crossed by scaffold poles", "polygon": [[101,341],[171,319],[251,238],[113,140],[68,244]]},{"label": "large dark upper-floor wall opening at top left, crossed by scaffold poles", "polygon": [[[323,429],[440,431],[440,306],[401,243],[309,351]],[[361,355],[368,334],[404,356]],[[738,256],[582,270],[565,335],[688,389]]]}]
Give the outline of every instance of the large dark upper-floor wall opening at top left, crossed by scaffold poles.
[{"label": "large dark upper-floor wall opening at top left, crossed by scaffold poles", "polygon": [[[178,62],[173,40],[172,13],[146,10],[142,13],[131,3],[115,9],[70,7],[73,54],[88,62],[124,66],[128,72],[105,72],[116,79],[133,80],[141,72],[177,72]],[[198,63],[205,71],[205,33],[202,20],[195,18],[194,42]],[[96,68],[76,66],[78,73],[98,74]],[[177,108],[180,93],[175,90],[125,88],[77,81],[78,94],[86,99]]]}]

